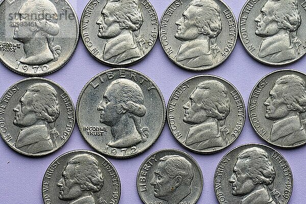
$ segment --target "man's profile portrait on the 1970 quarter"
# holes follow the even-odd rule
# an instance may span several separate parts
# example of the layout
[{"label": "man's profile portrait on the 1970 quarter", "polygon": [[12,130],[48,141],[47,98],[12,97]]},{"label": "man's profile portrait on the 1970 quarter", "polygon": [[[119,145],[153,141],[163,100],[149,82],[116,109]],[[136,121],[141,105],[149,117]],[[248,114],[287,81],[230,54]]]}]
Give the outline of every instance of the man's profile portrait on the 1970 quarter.
[{"label": "man's profile portrait on the 1970 quarter", "polygon": [[61,46],[54,44],[60,32],[57,21],[57,9],[49,0],[27,0],[22,4],[14,21],[13,37],[23,43],[21,63],[39,65],[58,60]]}]

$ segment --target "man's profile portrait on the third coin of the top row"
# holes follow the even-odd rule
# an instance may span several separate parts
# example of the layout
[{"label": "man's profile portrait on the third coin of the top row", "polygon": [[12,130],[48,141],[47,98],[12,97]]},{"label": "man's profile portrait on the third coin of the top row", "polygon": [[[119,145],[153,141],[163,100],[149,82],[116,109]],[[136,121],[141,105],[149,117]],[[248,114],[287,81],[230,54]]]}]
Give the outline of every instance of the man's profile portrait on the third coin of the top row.
[{"label": "man's profile portrait on the third coin of the top row", "polygon": [[175,57],[177,62],[191,68],[217,63],[220,49],[216,40],[222,24],[220,8],[213,0],[193,0],[175,24],[174,37],[184,41]]}]

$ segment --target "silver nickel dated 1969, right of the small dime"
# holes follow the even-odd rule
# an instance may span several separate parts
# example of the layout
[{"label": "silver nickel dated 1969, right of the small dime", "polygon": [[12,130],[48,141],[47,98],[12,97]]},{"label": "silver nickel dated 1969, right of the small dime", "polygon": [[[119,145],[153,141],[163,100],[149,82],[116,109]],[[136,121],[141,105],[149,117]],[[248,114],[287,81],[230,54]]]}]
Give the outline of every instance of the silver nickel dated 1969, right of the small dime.
[{"label": "silver nickel dated 1969, right of the small dime", "polygon": [[219,203],[286,204],[293,189],[293,175],[286,159],[262,144],[244,144],[229,151],[214,177]]}]

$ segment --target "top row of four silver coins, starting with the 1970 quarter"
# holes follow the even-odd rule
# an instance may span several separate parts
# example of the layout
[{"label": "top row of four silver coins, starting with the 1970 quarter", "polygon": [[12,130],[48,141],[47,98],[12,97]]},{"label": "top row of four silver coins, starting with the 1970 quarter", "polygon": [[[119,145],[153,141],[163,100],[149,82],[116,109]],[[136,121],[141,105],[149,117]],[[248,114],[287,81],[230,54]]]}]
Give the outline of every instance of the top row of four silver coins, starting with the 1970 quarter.
[{"label": "top row of four silver coins, starting with the 1970 quarter", "polygon": [[0,8],[10,15],[0,17],[5,22],[0,48],[12,55],[0,59],[21,74],[51,73],[72,56],[80,30],[90,54],[111,66],[140,61],[159,36],[175,64],[205,70],[220,65],[233,52],[238,30],[252,57],[269,65],[285,65],[306,52],[302,44],[306,39],[299,32],[305,29],[301,24],[305,10],[297,2],[249,0],[241,10],[238,27],[233,12],[222,1],[175,0],[159,24],[149,1],[91,0],[79,29],[78,17],[67,1],[40,0],[36,4],[28,0],[21,6],[3,1]]}]

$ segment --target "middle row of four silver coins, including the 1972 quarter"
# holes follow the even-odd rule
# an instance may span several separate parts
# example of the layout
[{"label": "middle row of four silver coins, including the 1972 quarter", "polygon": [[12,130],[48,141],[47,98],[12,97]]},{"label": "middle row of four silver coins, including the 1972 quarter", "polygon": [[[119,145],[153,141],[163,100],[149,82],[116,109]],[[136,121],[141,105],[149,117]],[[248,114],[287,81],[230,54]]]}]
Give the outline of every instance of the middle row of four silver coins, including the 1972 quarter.
[{"label": "middle row of four silver coins, including the 1972 quarter", "polygon": [[[249,119],[262,139],[287,148],[306,143],[305,80],[302,72],[278,70],[254,87]],[[68,93],[50,80],[19,81],[3,94],[0,105],[1,136],[21,154],[49,154],[61,147],[73,130],[73,103]],[[115,158],[136,156],[154,144],[163,130],[166,112],[175,139],[202,154],[232,144],[246,115],[239,91],[213,75],[197,75],[180,84],[166,111],[157,85],[143,73],[127,68],[109,69],[93,77],[81,91],[76,110],[87,143]]]}]

